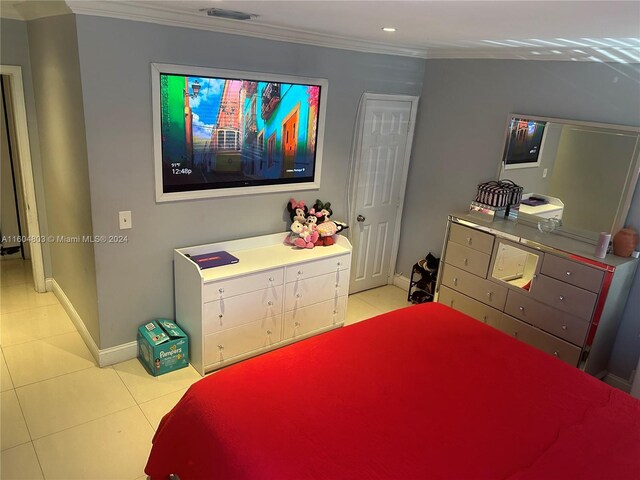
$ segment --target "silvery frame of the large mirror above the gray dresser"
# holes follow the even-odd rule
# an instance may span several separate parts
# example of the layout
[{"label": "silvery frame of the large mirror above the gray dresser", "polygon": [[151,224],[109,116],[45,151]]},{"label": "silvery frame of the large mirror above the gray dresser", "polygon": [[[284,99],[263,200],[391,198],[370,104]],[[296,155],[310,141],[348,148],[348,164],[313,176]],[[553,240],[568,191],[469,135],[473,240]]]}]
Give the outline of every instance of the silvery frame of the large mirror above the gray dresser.
[{"label": "silvery frame of the large mirror above the gray dresser", "polygon": [[[513,117],[518,118],[530,118],[531,120],[539,120],[544,122],[552,122],[559,123],[563,125],[575,125],[579,127],[596,127],[596,128],[609,128],[612,130],[620,130],[625,132],[636,133],[640,137],[640,127],[633,127],[630,125],[617,125],[614,123],[598,123],[598,122],[585,122],[582,120],[571,120],[566,118],[555,118],[555,117],[541,117],[538,115],[527,115],[522,113],[510,113],[507,116],[507,122],[505,126],[505,141],[503,143],[502,154],[500,157],[500,162],[498,164],[498,180],[500,179],[500,173],[504,167],[504,152],[509,144],[509,136],[510,136],[510,122]],[[636,189],[636,185],[638,182],[638,176],[640,174],[640,140],[636,144],[636,149],[633,153],[633,158],[631,159],[629,165],[629,171],[627,174],[627,180],[624,184],[624,188],[622,189],[622,193],[620,195],[621,202],[618,205],[618,210],[613,219],[613,223],[611,225],[611,231],[607,233],[611,233],[614,235],[621,228],[624,227],[624,222],[627,219],[627,215],[629,214],[629,208],[631,206],[631,200],[633,199],[633,194]],[[526,213],[518,212],[517,221],[529,225],[533,225],[537,227],[539,217],[535,215],[529,215]],[[592,232],[589,230],[583,230],[571,226],[561,225],[559,228],[553,231],[554,234],[564,235],[572,238],[576,238],[578,240],[582,240],[584,242],[593,243],[594,245],[598,243],[598,235],[600,232]]]}]

